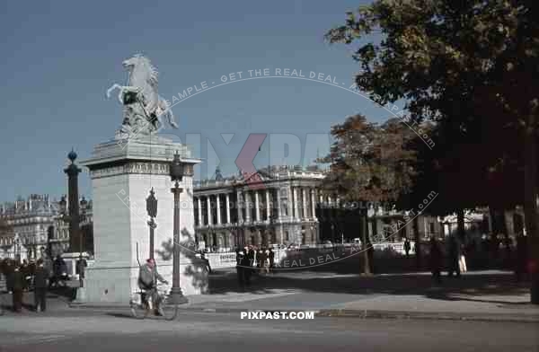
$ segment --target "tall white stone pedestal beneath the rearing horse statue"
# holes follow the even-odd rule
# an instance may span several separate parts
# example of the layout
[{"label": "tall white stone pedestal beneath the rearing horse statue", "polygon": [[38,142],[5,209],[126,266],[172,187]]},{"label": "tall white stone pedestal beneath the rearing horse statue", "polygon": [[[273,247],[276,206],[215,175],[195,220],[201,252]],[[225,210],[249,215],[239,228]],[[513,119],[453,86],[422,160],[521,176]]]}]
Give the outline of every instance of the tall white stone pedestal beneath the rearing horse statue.
[{"label": "tall white stone pedestal beneath the rearing horse statue", "polygon": [[155,261],[159,273],[172,286],[173,194],[169,165],[178,151],[187,175],[181,181],[181,290],[199,295],[208,289],[204,263],[193,252],[193,165],[186,145],[158,136],[111,140],[96,145],[93,155],[82,164],[90,170],[93,192],[93,237],[95,263],[86,268],[85,299],[88,303],[128,304],[137,292],[139,264],[148,258],[149,217],[146,198],[154,188]]}]

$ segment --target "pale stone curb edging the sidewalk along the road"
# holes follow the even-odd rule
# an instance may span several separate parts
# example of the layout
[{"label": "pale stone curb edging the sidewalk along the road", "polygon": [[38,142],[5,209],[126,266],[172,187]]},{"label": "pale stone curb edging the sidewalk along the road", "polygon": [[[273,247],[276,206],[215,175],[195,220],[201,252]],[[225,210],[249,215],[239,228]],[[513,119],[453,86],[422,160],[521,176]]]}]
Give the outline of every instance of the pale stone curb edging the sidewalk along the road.
[{"label": "pale stone curb edging the sidewalk along the road", "polygon": [[[69,304],[74,309],[129,309],[128,305],[87,305]],[[208,313],[240,313],[240,312],[314,312],[318,318],[359,318],[359,319],[422,319],[437,321],[505,321],[505,322],[531,322],[539,323],[539,315],[514,315],[514,314],[459,314],[451,312],[392,312],[377,310],[349,310],[349,309],[249,309],[240,307],[190,307],[181,306],[180,312],[208,312]]]}]

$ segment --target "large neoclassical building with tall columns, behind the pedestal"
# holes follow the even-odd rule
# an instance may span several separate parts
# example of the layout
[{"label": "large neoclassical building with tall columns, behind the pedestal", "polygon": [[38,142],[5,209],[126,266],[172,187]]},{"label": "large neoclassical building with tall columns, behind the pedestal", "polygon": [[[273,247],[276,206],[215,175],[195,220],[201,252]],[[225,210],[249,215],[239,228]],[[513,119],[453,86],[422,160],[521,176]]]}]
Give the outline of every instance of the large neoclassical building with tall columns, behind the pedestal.
[{"label": "large neoclassical building with tall columns, behind the pedestal", "polygon": [[320,242],[316,205],[323,172],[314,167],[272,166],[257,173],[194,185],[199,245],[230,251],[245,245]]}]

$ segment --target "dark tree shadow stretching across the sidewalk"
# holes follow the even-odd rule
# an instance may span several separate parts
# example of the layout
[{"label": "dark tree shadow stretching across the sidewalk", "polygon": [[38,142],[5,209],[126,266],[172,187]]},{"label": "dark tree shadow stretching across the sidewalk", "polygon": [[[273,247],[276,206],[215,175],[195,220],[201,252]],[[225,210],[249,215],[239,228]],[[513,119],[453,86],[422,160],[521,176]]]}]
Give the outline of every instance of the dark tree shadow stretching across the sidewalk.
[{"label": "dark tree shadow stretching across the sidewalk", "polygon": [[[426,298],[447,301],[475,301],[494,304],[522,304],[497,300],[495,296],[529,294],[526,282],[517,283],[511,273],[469,272],[461,277],[442,278],[435,283],[428,273],[388,274],[373,277],[360,275],[325,275],[320,272],[295,270],[293,273],[277,272],[267,276],[254,276],[246,292],[266,294],[274,289],[301,290],[312,293],[350,295],[422,295]],[[210,295],[240,293],[235,272],[219,272],[209,277]],[[489,296],[493,296],[489,299]],[[515,301],[515,300],[512,300]]]}]

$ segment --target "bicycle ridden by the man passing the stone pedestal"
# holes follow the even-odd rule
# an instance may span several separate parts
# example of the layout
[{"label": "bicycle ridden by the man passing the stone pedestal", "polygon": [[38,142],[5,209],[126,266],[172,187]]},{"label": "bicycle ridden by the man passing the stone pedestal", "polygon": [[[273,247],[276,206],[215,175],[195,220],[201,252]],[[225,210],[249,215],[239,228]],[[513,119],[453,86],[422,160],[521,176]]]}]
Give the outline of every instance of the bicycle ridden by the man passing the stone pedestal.
[{"label": "bicycle ridden by the man passing the stone pedestal", "polygon": [[[152,302],[153,296],[156,296],[158,299],[158,310],[159,314],[167,321],[172,321],[178,315],[180,310],[179,304],[169,303],[169,295],[166,293],[166,289],[163,288],[163,285],[158,284],[155,288],[155,293],[152,291],[144,291],[139,289],[134,293],[129,300],[129,307],[131,309],[131,314],[134,318],[145,319],[146,316],[152,311],[154,311],[154,302]],[[143,300],[143,297],[146,295],[146,300]],[[145,302],[146,301],[146,302]]]}]

